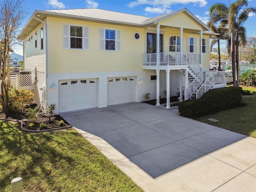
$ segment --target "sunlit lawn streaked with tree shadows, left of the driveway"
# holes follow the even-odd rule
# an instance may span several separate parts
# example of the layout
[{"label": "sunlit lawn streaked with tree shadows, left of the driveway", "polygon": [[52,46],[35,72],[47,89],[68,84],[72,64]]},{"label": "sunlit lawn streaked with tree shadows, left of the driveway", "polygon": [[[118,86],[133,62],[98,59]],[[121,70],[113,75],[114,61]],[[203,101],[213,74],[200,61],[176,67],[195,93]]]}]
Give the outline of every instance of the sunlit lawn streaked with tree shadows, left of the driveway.
[{"label": "sunlit lawn streaked with tree shadows, left of the driveway", "polygon": [[31,134],[0,121],[0,191],[22,177],[23,192],[142,192],[75,130]]}]

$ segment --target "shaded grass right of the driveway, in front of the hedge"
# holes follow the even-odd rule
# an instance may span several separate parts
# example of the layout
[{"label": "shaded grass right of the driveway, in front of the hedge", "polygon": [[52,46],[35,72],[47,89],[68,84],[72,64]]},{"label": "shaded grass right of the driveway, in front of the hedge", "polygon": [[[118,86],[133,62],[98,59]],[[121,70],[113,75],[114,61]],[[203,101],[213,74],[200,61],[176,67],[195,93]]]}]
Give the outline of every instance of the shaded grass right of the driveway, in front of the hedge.
[{"label": "shaded grass right of the driveway, in front of the hedge", "polygon": [[[256,138],[256,95],[243,96],[242,106],[197,118],[196,120]],[[218,122],[208,120],[214,118]]]}]

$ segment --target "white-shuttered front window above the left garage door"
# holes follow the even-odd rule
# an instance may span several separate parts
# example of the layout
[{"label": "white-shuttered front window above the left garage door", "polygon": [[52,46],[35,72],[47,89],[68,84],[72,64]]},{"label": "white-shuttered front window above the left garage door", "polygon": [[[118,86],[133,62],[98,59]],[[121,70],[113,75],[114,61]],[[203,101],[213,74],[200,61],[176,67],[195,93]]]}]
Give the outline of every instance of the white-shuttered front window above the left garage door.
[{"label": "white-shuttered front window above the left garage door", "polygon": [[89,49],[89,28],[85,26],[63,25],[64,49]]}]

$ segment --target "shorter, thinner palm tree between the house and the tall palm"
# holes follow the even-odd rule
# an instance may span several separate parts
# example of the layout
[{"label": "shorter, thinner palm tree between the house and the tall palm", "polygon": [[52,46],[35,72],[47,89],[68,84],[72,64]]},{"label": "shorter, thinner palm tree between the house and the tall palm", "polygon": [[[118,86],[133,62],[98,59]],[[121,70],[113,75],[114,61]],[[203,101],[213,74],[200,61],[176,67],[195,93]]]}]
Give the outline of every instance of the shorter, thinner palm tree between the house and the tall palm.
[{"label": "shorter, thinner palm tree between the house and the tall palm", "polygon": [[214,22],[209,20],[207,23],[207,26],[210,28],[212,32],[218,33],[220,35],[212,35],[210,38],[212,39],[210,44],[210,51],[212,52],[212,48],[215,44],[218,44],[217,52],[218,52],[218,70],[220,71],[220,40],[228,40],[228,28],[225,28],[225,26],[220,25],[216,26]]}]

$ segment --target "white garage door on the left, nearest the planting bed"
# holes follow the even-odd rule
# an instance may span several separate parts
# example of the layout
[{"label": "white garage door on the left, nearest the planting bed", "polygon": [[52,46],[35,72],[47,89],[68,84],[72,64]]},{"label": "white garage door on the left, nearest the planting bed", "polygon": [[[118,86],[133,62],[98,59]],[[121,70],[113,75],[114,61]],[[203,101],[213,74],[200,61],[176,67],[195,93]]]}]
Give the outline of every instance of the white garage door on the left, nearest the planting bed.
[{"label": "white garage door on the left, nearest the planting bed", "polygon": [[59,81],[59,112],[97,107],[97,79]]}]

